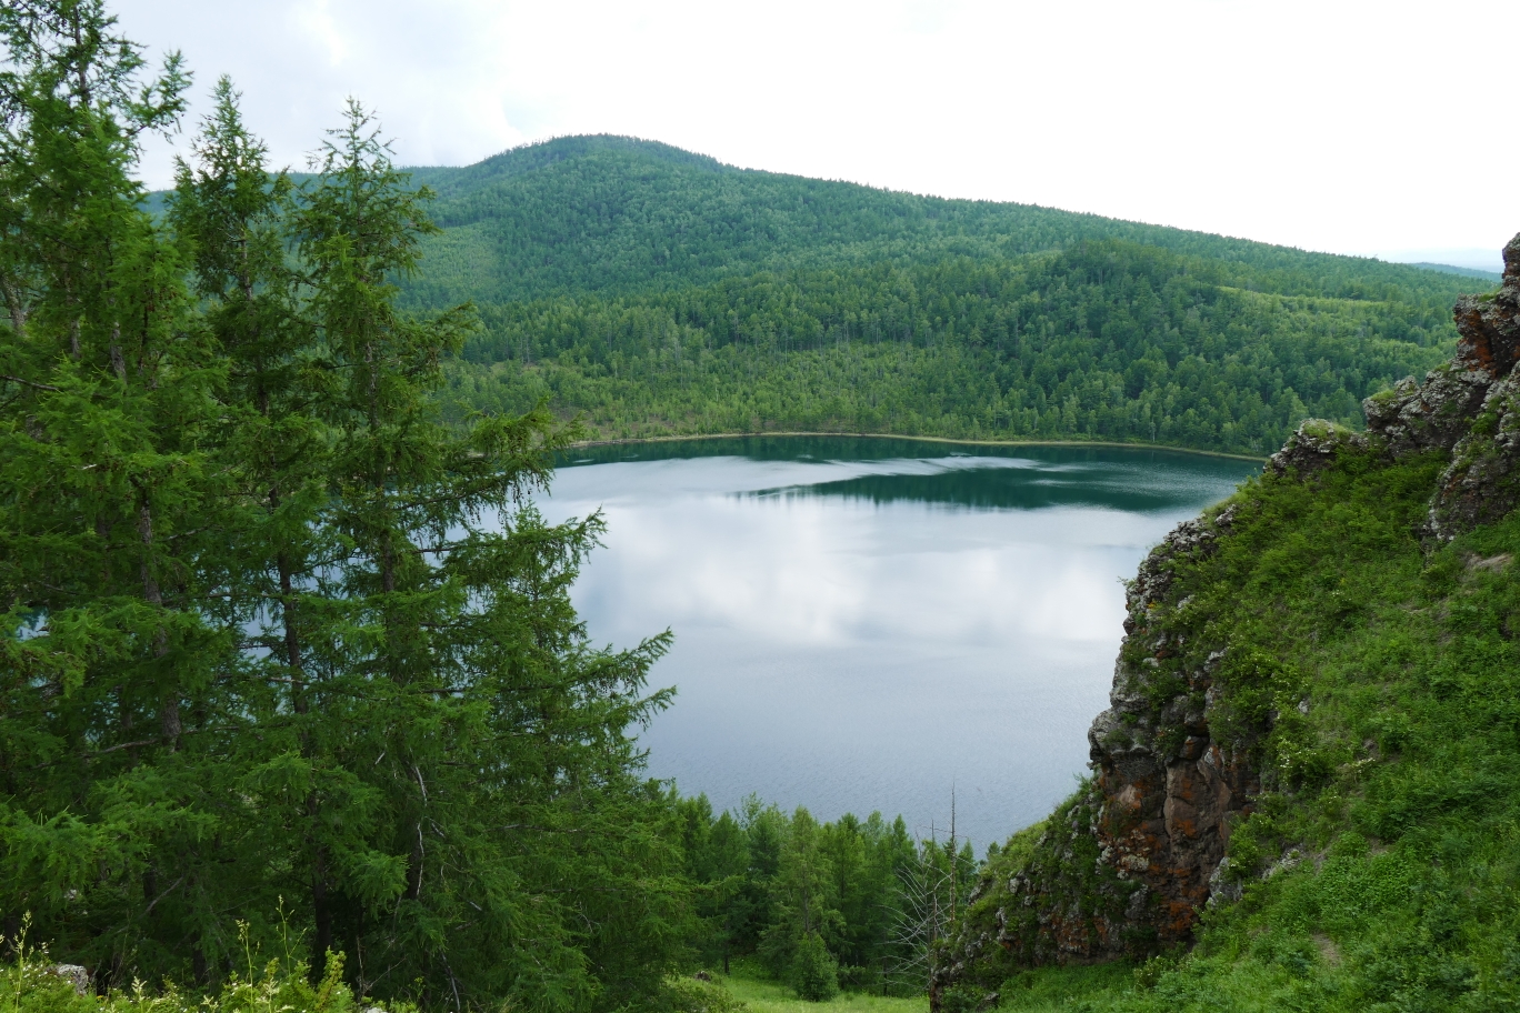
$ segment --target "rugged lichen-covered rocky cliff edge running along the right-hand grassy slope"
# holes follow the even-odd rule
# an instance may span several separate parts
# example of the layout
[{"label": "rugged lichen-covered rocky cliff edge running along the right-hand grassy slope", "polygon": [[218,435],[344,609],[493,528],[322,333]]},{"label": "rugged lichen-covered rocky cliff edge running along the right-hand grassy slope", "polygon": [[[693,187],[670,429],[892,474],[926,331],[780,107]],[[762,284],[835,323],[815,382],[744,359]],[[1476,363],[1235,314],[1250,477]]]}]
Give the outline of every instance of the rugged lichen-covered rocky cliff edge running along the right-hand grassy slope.
[{"label": "rugged lichen-covered rocky cliff edge running along the right-hand grassy slope", "polygon": [[[1342,456],[1438,457],[1421,533],[1430,544],[1520,504],[1520,235],[1503,255],[1500,289],[1456,304],[1450,363],[1366,399],[1363,433],[1304,422],[1263,481],[1313,483]],[[1129,583],[1110,708],[1088,732],[1091,776],[1032,838],[1015,838],[1017,860],[990,864],[941,954],[936,1008],[968,995],[985,1004],[1017,967],[1186,945],[1207,905],[1236,899],[1242,876],[1271,873],[1233,869],[1230,838],[1263,791],[1290,793],[1309,776],[1281,749],[1266,762],[1263,744],[1310,700],[1289,661],[1192,615],[1176,579],[1231,538],[1237,509],[1178,525]]]}]

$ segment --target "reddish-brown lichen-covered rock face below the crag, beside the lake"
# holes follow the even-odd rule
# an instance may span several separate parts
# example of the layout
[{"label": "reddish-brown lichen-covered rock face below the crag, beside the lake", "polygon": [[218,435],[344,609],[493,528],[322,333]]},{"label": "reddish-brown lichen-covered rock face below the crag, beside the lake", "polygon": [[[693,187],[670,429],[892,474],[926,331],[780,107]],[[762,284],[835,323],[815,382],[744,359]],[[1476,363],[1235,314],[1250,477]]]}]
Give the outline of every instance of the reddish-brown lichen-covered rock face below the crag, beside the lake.
[{"label": "reddish-brown lichen-covered rock face below the crag, beside the lake", "polygon": [[1184,521],[1140,565],[1110,708],[1088,732],[1093,778],[1047,820],[1017,875],[979,887],[979,917],[952,942],[936,989],[970,987],[977,972],[965,967],[986,966],[988,942],[1031,966],[1142,955],[1190,936],[1231,820],[1249,811],[1260,782],[1210,735],[1224,653],[1184,650],[1158,620],[1187,607],[1173,563],[1210,556],[1233,519],[1225,509]]}]

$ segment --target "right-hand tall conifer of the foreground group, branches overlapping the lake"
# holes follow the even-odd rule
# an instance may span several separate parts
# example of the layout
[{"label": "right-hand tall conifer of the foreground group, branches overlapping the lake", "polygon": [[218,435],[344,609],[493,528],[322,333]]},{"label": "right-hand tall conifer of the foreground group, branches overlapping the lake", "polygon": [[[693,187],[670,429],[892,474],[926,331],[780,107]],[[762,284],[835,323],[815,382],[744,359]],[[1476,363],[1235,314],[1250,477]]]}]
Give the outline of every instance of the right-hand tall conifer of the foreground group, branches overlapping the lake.
[{"label": "right-hand tall conifer of the foreground group, branches overlapping the lake", "polygon": [[547,525],[526,506],[568,430],[546,412],[439,421],[429,395],[473,314],[395,308],[426,197],[351,105],[293,213],[333,378],[322,524],[344,545],[307,683],[315,948],[350,945],[362,987],[392,975],[576,1007],[646,987],[684,917],[654,826],[664,800],[637,782],[626,735],[664,706],[641,688],[666,638],[585,644],[568,585],[600,522]]}]

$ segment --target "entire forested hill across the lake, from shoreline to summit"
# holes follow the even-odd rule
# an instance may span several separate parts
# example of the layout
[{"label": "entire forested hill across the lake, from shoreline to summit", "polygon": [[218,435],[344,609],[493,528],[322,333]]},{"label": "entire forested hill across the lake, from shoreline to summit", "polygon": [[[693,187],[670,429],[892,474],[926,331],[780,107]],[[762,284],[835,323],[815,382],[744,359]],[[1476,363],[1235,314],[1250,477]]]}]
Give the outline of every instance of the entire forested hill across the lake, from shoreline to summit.
[{"label": "entire forested hill across the lake, from shoreline to summit", "polygon": [[1268,454],[1453,346],[1471,276],[567,137],[416,169],[401,301],[473,301],[456,419],[603,439],[857,431]]}]

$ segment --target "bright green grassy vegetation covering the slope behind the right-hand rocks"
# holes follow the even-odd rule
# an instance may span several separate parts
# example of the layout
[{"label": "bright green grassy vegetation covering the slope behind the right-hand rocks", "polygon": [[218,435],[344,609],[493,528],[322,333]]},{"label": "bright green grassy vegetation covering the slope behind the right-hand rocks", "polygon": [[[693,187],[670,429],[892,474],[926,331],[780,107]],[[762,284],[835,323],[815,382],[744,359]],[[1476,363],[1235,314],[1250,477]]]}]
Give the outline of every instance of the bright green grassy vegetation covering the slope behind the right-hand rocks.
[{"label": "bright green grassy vegetation covering the slope behind the right-hand rocks", "polygon": [[[1520,516],[1423,542],[1442,465],[1347,448],[1307,481],[1263,475],[1218,551],[1173,562],[1169,597],[1189,604],[1149,623],[1184,644],[1178,664],[1225,650],[1214,729],[1256,750],[1268,791],[1230,838],[1242,899],[1087,1008],[1514,1002]],[[1014,850],[994,887],[1044,875],[1044,846],[1000,866]],[[1002,967],[982,977],[1055,974]]]}]

